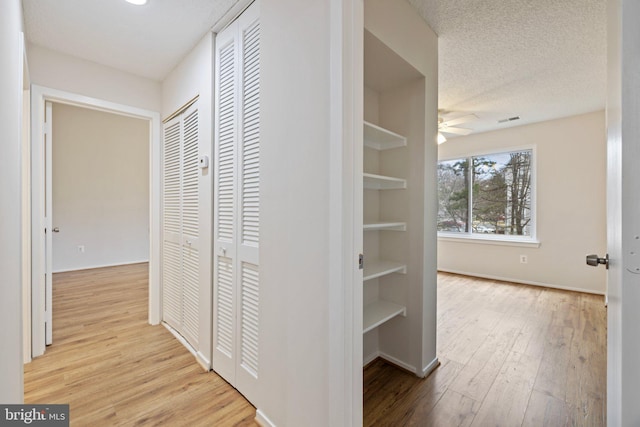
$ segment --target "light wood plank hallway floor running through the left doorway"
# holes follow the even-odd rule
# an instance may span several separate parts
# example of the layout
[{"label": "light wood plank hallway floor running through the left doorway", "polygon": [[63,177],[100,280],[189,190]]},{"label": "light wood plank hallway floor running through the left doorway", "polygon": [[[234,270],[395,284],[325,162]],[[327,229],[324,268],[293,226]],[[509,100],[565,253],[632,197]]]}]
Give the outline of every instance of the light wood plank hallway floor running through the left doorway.
[{"label": "light wood plank hallway floor running through the left doorway", "polygon": [[53,345],[25,365],[25,402],[70,404],[72,426],[256,426],[236,390],[147,323],[147,270],[54,275]]}]

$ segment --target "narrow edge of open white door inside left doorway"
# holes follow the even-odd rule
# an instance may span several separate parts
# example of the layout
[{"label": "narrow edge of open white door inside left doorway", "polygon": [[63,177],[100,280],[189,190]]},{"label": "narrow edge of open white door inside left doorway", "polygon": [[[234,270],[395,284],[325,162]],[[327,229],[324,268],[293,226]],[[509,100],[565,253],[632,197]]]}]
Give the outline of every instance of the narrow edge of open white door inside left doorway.
[{"label": "narrow edge of open white door inside left doorway", "polygon": [[53,343],[53,104],[45,103],[44,164],[45,164],[45,343]]}]

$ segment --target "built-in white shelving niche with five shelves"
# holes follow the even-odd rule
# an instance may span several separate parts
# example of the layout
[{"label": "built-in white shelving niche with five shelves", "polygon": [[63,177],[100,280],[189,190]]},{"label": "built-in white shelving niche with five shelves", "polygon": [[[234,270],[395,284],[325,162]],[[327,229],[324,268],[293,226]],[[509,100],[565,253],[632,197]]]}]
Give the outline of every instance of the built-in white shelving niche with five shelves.
[{"label": "built-in white shelving niche with five shelves", "polygon": [[[436,129],[427,126],[425,74],[377,37],[383,33],[365,21],[363,364],[382,357],[423,376],[426,278],[435,276],[435,266],[425,272],[425,135],[433,131],[435,165]],[[427,347],[435,350],[435,340]]]}]

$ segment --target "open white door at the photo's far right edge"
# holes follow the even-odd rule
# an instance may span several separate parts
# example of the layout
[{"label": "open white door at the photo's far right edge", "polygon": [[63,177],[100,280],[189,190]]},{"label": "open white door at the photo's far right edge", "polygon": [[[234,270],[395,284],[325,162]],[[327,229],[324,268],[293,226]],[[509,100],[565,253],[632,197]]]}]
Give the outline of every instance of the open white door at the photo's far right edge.
[{"label": "open white door at the photo's far right edge", "polygon": [[640,425],[640,3],[608,1],[607,424]]}]

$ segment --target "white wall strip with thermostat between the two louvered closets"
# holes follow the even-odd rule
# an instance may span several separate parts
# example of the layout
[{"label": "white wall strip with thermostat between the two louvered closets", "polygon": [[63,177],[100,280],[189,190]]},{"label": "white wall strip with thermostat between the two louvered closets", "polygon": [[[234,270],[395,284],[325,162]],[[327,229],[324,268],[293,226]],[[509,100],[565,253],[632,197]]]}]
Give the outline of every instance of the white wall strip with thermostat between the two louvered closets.
[{"label": "white wall strip with thermostat between the two louvered closets", "polygon": [[[200,156],[209,156],[213,164],[213,34],[207,33],[196,47],[169,73],[162,83],[162,118],[167,118],[194,97],[198,98]],[[213,225],[212,168],[201,170],[200,180],[200,294],[198,359],[211,366],[212,339],[212,265],[211,239]]]}]

